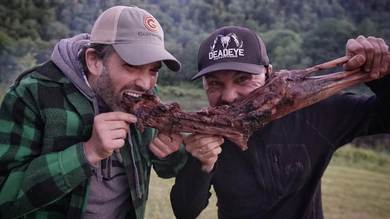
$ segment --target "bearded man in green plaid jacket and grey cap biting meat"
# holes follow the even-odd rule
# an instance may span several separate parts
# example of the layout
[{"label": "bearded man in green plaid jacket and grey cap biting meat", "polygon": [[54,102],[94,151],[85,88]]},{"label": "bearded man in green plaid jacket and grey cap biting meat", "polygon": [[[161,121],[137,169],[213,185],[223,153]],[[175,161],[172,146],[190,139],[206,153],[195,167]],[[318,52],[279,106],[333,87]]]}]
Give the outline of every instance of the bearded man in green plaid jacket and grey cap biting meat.
[{"label": "bearded man in green plaid jacket and grey cap biting meat", "polygon": [[151,166],[175,176],[183,137],[139,132],[120,102],[158,94],[161,62],[180,68],[159,23],[115,6],[23,72],[0,107],[0,218],[143,218]]}]

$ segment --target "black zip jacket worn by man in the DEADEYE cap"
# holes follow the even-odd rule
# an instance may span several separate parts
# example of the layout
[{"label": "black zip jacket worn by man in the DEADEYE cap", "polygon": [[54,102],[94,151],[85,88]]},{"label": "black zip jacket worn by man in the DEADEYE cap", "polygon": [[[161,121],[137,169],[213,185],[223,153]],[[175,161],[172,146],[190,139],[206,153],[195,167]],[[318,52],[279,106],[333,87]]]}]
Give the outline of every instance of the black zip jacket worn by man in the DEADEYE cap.
[{"label": "black zip jacket worn by man in the DEADEYE cap", "polygon": [[211,173],[190,156],[170,198],[177,218],[196,218],[213,186],[218,218],[323,218],[321,176],[333,152],[357,136],[390,133],[390,76],[373,96],[339,92],[268,123],[241,151],[225,139]]}]

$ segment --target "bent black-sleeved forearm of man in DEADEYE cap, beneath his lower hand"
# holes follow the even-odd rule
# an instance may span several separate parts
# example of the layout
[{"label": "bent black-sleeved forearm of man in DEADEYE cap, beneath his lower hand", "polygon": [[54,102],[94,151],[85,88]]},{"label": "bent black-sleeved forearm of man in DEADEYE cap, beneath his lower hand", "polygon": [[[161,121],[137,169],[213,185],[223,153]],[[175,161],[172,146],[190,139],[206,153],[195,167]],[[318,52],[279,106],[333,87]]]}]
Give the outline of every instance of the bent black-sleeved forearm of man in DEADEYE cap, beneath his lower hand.
[{"label": "bent black-sleeved forearm of man in DEADEYE cap, beneath his lower hand", "polygon": [[194,157],[188,157],[170,191],[173,213],[177,218],[196,218],[207,206],[215,169],[216,165],[210,173],[204,172]]}]

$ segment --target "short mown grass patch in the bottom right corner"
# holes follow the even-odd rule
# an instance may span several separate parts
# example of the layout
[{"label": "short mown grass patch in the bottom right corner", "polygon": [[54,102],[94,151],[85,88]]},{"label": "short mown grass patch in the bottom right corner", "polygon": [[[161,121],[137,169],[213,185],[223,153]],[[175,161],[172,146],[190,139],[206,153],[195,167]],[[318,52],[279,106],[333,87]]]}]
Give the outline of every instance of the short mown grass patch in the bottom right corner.
[{"label": "short mown grass patch in the bottom right corner", "polygon": [[330,165],[322,177],[325,218],[390,218],[390,175]]}]

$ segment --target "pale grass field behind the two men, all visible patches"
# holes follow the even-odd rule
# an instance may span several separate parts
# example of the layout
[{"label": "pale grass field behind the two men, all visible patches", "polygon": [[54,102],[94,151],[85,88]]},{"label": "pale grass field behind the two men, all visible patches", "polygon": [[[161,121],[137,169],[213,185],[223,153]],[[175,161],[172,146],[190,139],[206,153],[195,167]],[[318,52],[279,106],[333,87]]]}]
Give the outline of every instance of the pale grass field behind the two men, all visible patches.
[{"label": "pale grass field behind the two men, all visible patches", "polygon": [[[350,157],[354,158],[349,159],[345,154],[350,154]],[[373,162],[373,157],[382,160],[381,163]],[[387,154],[351,146],[341,147],[322,177],[325,218],[390,219],[390,162],[387,162],[389,160],[390,155]],[[173,183],[174,179],[161,179],[153,172],[145,218],[174,218],[169,201],[169,191]],[[216,218],[215,203],[213,194],[209,205],[198,218]]]}]

